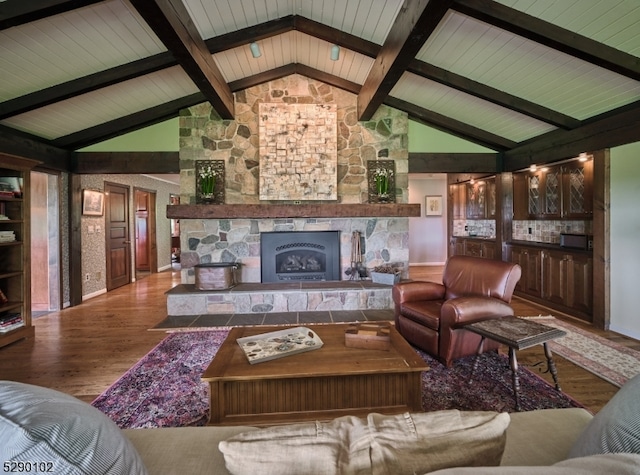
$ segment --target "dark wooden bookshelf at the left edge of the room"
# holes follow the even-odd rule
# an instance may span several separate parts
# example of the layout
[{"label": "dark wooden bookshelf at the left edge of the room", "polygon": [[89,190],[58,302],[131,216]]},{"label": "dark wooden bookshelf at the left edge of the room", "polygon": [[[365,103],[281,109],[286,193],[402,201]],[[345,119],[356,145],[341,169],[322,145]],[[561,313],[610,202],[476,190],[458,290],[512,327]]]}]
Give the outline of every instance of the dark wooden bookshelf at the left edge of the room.
[{"label": "dark wooden bookshelf at the left edge of the room", "polygon": [[[0,347],[33,336],[29,280],[29,177],[36,162],[0,154],[0,181],[18,184],[0,196]],[[4,298],[2,298],[4,296]]]}]

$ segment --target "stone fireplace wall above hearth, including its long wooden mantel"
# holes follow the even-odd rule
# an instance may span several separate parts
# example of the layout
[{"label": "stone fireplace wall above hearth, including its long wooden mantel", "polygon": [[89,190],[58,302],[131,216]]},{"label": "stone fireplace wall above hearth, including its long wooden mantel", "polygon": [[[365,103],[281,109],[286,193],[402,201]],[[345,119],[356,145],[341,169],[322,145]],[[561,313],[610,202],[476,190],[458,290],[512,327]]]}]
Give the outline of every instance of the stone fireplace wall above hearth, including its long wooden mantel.
[{"label": "stone fireplace wall above hearth, including its long wooden mantel", "polygon": [[[220,119],[208,103],[181,111],[183,204],[168,206],[167,217],[180,219],[182,283],[193,284],[193,266],[208,262],[240,262],[240,281],[259,283],[260,234],[279,231],[338,231],[343,280],[351,267],[351,236],[359,231],[366,267],[394,263],[407,276],[408,217],[420,216],[420,205],[406,204],[407,114],[383,105],[371,120],[359,122],[355,94],[298,74],[236,92],[234,98],[231,121]],[[335,104],[336,200],[260,200],[259,105],[276,102]],[[223,205],[195,204],[195,161],[207,159],[225,162]],[[367,162],[379,159],[395,162],[395,204],[367,203]],[[305,309],[312,308],[315,304]]]}]

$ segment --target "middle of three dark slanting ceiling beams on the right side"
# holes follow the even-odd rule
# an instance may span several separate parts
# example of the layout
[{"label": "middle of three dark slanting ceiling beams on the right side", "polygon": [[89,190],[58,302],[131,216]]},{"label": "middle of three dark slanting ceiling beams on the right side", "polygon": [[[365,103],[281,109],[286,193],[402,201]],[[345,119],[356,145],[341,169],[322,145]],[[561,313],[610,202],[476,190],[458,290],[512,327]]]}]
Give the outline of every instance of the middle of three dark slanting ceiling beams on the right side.
[{"label": "middle of three dark slanting ceiling beams on the right side", "polygon": [[413,60],[407,71],[556,127],[569,130],[575,129],[581,124],[578,119],[571,116],[548,109],[535,102],[530,102],[526,99],[508,94],[424,61]]}]

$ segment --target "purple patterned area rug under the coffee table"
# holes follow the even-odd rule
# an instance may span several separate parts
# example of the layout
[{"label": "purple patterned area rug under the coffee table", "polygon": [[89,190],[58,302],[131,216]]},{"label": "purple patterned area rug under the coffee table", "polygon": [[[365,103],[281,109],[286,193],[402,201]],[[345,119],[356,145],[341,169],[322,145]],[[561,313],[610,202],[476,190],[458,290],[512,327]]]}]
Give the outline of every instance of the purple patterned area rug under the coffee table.
[{"label": "purple patterned area rug under the coffee table", "polygon": [[[168,335],[129,369],[92,405],[121,428],[200,426],[209,416],[209,387],[200,375],[224,341],[228,330],[177,332]],[[442,409],[515,411],[507,358],[482,356],[471,378],[474,357],[446,368],[429,355],[423,373],[425,411]],[[522,410],[582,407],[526,368],[520,368]]]}]

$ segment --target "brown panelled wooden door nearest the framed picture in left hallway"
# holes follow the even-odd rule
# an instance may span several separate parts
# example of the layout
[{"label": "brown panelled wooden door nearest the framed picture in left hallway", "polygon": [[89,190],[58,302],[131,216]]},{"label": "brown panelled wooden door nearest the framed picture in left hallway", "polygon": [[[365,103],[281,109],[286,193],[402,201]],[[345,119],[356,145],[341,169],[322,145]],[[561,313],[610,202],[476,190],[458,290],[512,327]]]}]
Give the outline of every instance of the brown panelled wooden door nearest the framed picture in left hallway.
[{"label": "brown panelled wooden door nearest the framed picture in left hallway", "polygon": [[107,290],[113,290],[131,282],[129,188],[105,183],[104,189]]}]

